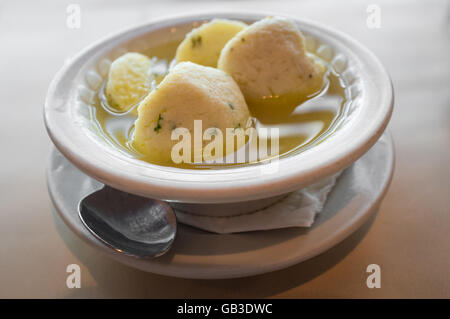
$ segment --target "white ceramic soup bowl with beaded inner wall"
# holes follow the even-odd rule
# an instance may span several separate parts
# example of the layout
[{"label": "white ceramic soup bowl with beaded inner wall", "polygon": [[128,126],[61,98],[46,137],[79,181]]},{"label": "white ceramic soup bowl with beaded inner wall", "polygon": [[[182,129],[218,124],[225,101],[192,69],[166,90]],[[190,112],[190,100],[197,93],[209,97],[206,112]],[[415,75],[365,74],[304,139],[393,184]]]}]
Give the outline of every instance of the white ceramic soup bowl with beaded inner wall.
[{"label": "white ceramic soup bowl with beaded inner wall", "polygon": [[[181,203],[229,203],[225,210],[235,212],[239,208],[232,203],[251,201],[252,209],[267,206],[283,194],[346,168],[385,130],[393,108],[391,81],[375,55],[351,37],[292,17],[306,35],[308,49],[333,65],[352,97],[340,127],[320,144],[278,163],[189,170],[133,159],[108,144],[92,125],[89,104],[107,74],[108,61],[126,51],[183,38],[199,21],[229,18],[252,22],[267,15],[208,13],[158,19],[91,45],[64,65],[50,85],[44,115],[51,139],[80,170],[112,187]],[[200,206],[189,207],[195,212]],[[215,205],[204,207],[209,211]]]}]

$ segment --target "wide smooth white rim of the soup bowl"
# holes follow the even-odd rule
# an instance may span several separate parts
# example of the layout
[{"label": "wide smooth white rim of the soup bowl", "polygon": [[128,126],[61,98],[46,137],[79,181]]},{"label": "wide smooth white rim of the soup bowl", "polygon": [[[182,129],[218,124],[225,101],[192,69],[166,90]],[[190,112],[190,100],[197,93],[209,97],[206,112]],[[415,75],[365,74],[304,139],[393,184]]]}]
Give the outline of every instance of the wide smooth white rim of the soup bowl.
[{"label": "wide smooth white rim of the soup bowl", "polygon": [[[145,33],[174,25],[212,18],[256,21],[269,15],[273,15],[273,12],[220,11],[171,15],[98,40],[66,63],[50,83],[44,104],[44,122],[51,140],[72,164],[105,184],[141,196],[186,203],[227,203],[276,196],[348,167],[366,153],[384,132],[394,105],[392,82],[379,59],[358,41],[335,28],[285,14],[280,16],[328,37],[335,45],[340,43],[340,49],[358,59],[358,71],[364,75],[362,78],[366,85],[370,84],[372,99],[366,99],[365,104],[370,104],[366,105],[366,109],[369,106],[372,108],[373,118],[362,118],[363,123],[353,123],[353,133],[357,134],[340,134],[333,137],[336,145],[328,143],[328,149],[323,147],[325,143],[321,143],[300,156],[291,156],[271,164],[207,171],[161,167],[139,160],[127,162],[117,156],[96,152],[93,140],[86,134],[80,134],[81,129],[68,106],[69,97],[73,95],[72,78],[102,50],[107,52],[106,48],[110,50],[112,44],[127,42]],[[319,151],[321,156],[317,156]],[[262,174],[263,166],[270,171],[268,165],[279,165],[277,173]]]}]

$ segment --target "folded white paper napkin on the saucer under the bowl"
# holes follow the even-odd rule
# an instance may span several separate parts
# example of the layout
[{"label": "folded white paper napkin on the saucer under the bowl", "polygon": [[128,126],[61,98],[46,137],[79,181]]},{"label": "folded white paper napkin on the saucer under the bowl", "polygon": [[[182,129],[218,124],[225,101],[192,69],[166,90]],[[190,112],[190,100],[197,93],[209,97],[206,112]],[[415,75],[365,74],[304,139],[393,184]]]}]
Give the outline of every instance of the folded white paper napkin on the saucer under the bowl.
[{"label": "folded white paper napkin on the saucer under the bowl", "polygon": [[274,205],[232,217],[193,215],[176,210],[178,221],[219,234],[286,227],[311,227],[340,173],[289,194]]}]

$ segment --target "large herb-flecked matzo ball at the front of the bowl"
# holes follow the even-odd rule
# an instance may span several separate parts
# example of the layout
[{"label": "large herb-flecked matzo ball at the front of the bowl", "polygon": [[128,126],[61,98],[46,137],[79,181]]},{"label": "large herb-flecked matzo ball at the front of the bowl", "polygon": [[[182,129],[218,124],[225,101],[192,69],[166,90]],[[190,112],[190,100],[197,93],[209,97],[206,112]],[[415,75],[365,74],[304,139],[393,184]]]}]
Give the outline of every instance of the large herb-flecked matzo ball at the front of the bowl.
[{"label": "large herb-flecked matzo ball at the front of the bowl", "polygon": [[[193,141],[194,120],[202,120],[202,134],[209,128],[220,129],[225,140],[227,128],[245,128],[248,119],[244,96],[228,74],[181,62],[139,105],[132,145],[147,160],[170,165],[175,162],[171,157],[172,147],[179,141],[171,139],[174,129],[186,128]],[[192,141],[191,154],[194,154]],[[211,141],[202,141],[203,148]],[[235,146],[237,150],[243,144],[239,145],[238,141]],[[190,160],[197,161],[193,156]]]}]

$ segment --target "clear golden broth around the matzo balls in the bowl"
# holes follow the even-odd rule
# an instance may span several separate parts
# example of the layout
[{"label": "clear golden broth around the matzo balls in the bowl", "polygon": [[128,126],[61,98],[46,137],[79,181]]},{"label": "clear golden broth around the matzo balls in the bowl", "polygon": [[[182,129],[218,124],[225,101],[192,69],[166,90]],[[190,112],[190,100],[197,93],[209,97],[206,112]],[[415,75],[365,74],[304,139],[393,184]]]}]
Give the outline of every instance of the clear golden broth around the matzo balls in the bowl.
[{"label": "clear golden broth around the matzo balls in the bowl", "polygon": [[[165,60],[167,65],[169,65],[175,56],[175,51],[179,43],[180,41],[168,42],[141,53],[149,57],[155,57],[160,62]],[[155,76],[156,82],[159,83],[163,77],[164,75]],[[280,157],[302,152],[320,143],[336,128],[343,114],[344,107],[348,102],[345,85],[339,75],[330,68],[326,72],[324,82],[324,88],[318,94],[305,98],[305,101],[295,108],[289,109],[288,107],[283,107],[283,101],[277,101],[276,99],[271,99],[271,101],[266,101],[260,105],[249,105],[249,110],[251,116],[254,118],[257,129],[279,128]],[[153,164],[191,169],[243,165],[204,163],[171,163],[170,165],[169,163],[155,163],[150,161],[144,155],[137,152],[131,145],[134,122],[137,118],[136,109],[124,115],[114,114],[108,111],[104,103],[101,102],[104,100],[103,94],[102,89],[92,109],[91,119],[97,126],[99,133],[110,144],[124,151],[129,156]],[[270,149],[270,139],[267,141],[267,144]],[[257,162],[262,162],[269,158],[270,156]],[[244,165],[248,164],[247,162]]]}]

